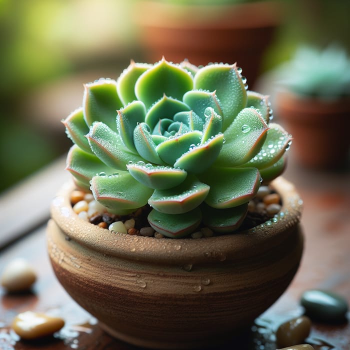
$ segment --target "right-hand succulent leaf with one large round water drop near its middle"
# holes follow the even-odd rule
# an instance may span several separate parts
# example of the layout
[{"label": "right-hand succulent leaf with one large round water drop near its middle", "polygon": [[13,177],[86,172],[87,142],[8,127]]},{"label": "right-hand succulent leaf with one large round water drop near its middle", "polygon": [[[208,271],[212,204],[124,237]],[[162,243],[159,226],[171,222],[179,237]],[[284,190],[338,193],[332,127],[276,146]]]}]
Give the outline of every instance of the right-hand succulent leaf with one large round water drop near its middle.
[{"label": "right-hand succulent leaf with one large round water drop near its middle", "polygon": [[242,109],[224,132],[225,143],[216,164],[238,166],[250,160],[266,138],[268,125],[255,108]]}]

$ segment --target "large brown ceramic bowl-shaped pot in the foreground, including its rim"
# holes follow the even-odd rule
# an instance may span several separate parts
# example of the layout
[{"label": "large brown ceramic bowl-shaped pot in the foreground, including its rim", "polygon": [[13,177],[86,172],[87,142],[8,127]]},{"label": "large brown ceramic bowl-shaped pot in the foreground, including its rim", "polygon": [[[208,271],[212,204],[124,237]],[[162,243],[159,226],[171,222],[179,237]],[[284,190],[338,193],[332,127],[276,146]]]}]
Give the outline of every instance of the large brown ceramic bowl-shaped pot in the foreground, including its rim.
[{"label": "large brown ceramic bowl-shaped pot in the foreground, including its rim", "polygon": [[152,348],[217,345],[266,310],[301,257],[301,199],[279,177],[282,211],[234,234],[161,238],[111,233],[72,211],[65,184],[52,202],[48,253],[58,280],[100,326]]}]

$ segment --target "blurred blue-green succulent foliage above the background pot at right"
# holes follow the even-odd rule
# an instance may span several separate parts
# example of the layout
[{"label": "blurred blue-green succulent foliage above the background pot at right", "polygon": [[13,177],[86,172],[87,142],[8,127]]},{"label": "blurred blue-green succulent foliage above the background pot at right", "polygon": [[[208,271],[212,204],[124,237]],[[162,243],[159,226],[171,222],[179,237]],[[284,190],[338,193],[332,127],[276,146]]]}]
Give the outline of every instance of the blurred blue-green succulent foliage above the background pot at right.
[{"label": "blurred blue-green succulent foliage above the background pot at right", "polygon": [[324,49],[300,46],[277,71],[280,84],[300,95],[325,99],[350,95],[350,58],[335,44]]}]

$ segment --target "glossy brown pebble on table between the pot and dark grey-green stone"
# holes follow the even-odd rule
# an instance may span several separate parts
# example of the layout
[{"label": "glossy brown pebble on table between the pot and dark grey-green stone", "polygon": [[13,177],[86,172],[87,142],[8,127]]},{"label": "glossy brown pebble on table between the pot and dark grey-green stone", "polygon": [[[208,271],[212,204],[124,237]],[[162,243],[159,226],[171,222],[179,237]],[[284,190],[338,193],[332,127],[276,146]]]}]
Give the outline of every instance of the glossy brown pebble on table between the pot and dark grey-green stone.
[{"label": "glossy brown pebble on table between the pot and dark grey-green stone", "polygon": [[279,325],[276,331],[278,346],[292,346],[302,343],[310,333],[311,320],[306,316],[292,318]]}]

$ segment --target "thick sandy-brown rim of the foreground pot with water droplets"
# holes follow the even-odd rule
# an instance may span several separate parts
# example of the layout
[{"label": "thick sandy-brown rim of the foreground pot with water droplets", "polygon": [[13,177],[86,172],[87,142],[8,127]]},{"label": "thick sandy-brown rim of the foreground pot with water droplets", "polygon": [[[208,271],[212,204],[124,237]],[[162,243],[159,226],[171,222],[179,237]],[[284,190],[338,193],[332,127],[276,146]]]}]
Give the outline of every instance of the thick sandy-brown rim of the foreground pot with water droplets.
[{"label": "thick sandy-brown rim of the foreground pot with water droplets", "polygon": [[263,224],[247,230],[213,237],[155,238],[112,233],[78,217],[69,201],[70,192],[76,188],[72,180],[63,184],[51,203],[51,220],[48,229],[56,223],[68,237],[103,255],[129,260],[157,263],[193,263],[237,260],[271,249],[286,235],[298,227],[302,211],[302,200],[294,185],[279,176],[271,186],[281,196],[282,207],[278,214]]}]

